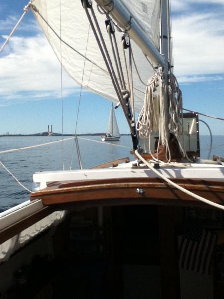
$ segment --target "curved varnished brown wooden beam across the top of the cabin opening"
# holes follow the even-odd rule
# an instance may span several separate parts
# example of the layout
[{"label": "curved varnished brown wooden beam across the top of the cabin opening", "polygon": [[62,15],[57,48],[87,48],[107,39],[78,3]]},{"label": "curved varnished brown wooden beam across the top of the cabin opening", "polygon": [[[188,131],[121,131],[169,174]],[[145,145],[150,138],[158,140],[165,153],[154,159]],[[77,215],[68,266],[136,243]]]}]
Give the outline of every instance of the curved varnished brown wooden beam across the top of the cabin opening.
[{"label": "curved varnished brown wooden beam across the top of the cabin opening", "polygon": [[[224,204],[224,183],[200,179],[172,179],[181,187],[212,202]],[[137,189],[143,190],[138,193]],[[42,199],[44,205],[88,204],[88,206],[120,204],[198,205],[204,203],[183,193],[160,178],[118,178],[51,183],[31,194],[31,200]],[[207,206],[207,205],[206,205]]]}]

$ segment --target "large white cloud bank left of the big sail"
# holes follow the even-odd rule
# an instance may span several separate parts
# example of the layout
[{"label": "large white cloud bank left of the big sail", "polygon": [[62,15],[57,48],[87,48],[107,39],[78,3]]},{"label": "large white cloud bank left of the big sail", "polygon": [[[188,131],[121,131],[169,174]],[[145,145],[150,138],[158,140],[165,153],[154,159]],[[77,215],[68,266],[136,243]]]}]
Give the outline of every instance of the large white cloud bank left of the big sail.
[{"label": "large white cloud bank left of the big sail", "polygon": [[[6,55],[0,59],[0,94],[8,100],[59,98],[60,64],[42,35],[13,37]],[[63,95],[68,96],[77,84],[63,72]]]}]

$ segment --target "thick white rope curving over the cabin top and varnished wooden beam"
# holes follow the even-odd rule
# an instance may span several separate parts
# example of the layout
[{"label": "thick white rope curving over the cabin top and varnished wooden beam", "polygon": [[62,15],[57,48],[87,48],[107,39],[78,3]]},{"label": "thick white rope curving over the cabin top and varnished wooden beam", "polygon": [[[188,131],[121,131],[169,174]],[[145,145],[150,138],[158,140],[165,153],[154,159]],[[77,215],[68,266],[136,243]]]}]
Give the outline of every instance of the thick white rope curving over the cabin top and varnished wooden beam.
[{"label": "thick white rope curving over the cabin top and varnished wooden beam", "polygon": [[146,165],[148,166],[154,173],[156,173],[159,177],[161,177],[163,180],[165,180],[167,183],[169,183],[170,185],[174,186],[175,188],[177,188],[178,190],[194,197],[195,199],[198,199],[199,201],[202,201],[208,205],[211,205],[215,208],[218,208],[218,209],[221,209],[221,210],[224,210],[224,206],[221,205],[221,204],[218,204],[218,203],[215,203],[215,202],[212,202],[206,198],[203,198],[191,191],[188,191],[187,189],[179,186],[178,184],[174,183],[173,181],[171,181],[170,179],[168,179],[167,177],[165,177],[164,175],[162,175],[159,171],[157,171],[153,166],[150,165],[150,163],[148,163],[139,153],[137,150],[135,150],[134,152],[136,154],[136,156]]}]

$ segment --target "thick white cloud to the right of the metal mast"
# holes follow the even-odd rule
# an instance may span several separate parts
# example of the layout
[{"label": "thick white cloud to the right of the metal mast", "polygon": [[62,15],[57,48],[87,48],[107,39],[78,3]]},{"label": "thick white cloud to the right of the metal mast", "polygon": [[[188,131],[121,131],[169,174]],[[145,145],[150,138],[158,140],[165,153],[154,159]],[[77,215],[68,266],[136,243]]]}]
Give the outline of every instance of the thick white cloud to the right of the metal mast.
[{"label": "thick white cloud to the right of the metal mast", "polygon": [[[177,76],[183,78],[224,73],[223,15],[185,14],[174,18],[172,27]],[[204,78],[206,80],[206,76]]]}]

